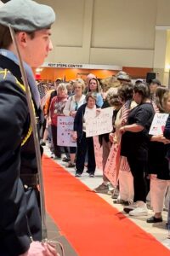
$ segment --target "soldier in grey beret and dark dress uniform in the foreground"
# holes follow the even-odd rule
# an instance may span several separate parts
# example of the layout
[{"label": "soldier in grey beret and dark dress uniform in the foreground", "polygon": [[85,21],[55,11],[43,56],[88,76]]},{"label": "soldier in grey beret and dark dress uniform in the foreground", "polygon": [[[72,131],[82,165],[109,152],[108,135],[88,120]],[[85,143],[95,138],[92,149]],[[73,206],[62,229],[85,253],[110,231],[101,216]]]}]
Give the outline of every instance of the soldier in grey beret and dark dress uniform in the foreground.
[{"label": "soldier in grey beret and dark dress uniform in the foreground", "polygon": [[[42,65],[53,48],[54,10],[32,0],[11,0],[0,7],[0,255],[26,253],[41,240],[37,207],[37,161],[26,102],[26,88],[10,36],[13,26],[35,113],[40,99],[31,67]],[[21,181],[22,180],[22,181]],[[32,218],[33,217],[33,218]]]}]

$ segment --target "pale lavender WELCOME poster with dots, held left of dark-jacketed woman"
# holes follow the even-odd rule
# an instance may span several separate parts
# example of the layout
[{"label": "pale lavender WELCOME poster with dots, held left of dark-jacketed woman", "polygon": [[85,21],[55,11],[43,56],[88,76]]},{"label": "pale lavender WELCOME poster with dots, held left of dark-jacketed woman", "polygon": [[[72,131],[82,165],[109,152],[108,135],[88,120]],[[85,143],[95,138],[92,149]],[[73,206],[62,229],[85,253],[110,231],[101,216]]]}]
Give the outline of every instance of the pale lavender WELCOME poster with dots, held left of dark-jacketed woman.
[{"label": "pale lavender WELCOME poster with dots, held left of dark-jacketed woman", "polygon": [[71,135],[73,133],[74,119],[70,116],[59,116],[57,119],[57,145],[77,147]]}]

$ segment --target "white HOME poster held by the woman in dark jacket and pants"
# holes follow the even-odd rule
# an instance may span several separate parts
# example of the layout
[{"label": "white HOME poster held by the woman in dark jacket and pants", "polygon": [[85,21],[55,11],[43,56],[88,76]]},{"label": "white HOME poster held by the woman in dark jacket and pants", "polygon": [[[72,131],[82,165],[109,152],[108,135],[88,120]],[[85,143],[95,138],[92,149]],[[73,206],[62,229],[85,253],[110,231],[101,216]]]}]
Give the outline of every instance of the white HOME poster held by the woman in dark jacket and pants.
[{"label": "white HOME poster held by the woman in dark jacket and pants", "polygon": [[113,130],[112,125],[113,108],[103,108],[94,118],[86,119],[86,137],[94,137],[100,134],[109,133]]}]

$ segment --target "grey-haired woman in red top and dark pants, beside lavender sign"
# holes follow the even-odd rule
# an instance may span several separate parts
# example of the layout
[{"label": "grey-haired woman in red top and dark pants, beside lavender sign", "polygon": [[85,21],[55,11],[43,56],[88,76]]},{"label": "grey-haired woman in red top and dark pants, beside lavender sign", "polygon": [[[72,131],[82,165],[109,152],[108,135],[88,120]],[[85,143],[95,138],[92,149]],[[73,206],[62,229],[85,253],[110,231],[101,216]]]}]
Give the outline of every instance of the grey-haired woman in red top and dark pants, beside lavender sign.
[{"label": "grey-haired woman in red top and dark pants, beside lavender sign", "polygon": [[[57,88],[57,96],[54,96],[49,108],[49,124],[51,125],[52,139],[54,143],[54,158],[61,158],[61,150],[57,145],[57,118],[59,115],[64,115],[63,109],[67,102],[67,90],[64,83],[60,83]],[[67,149],[65,148],[65,153]]]}]

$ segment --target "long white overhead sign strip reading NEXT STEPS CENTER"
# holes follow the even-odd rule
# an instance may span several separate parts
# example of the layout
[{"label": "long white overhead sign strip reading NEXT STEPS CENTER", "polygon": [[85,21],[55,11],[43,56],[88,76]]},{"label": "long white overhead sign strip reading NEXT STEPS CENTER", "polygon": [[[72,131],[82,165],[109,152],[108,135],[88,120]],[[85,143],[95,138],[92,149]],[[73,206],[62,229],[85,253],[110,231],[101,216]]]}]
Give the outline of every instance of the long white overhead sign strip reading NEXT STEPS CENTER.
[{"label": "long white overhead sign strip reading NEXT STEPS CENTER", "polygon": [[42,67],[122,70],[122,67],[116,66],[116,65],[94,65],[94,64],[74,64],[74,63],[53,63],[53,62],[45,62],[43,63]]}]

